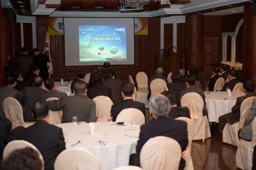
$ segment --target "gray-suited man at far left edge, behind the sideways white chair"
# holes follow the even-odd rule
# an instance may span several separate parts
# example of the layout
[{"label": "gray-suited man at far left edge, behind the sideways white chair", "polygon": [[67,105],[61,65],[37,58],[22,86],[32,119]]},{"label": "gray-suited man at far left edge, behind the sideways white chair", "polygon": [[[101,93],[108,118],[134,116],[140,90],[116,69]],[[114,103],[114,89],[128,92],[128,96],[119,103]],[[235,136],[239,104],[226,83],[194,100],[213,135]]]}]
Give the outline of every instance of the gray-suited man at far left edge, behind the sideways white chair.
[{"label": "gray-suited man at far left edge, behind the sideways white chair", "polygon": [[0,87],[0,117],[5,117],[3,111],[3,101],[6,97],[15,97],[17,94],[17,90],[14,89],[17,82],[15,78],[9,76],[7,78],[7,85],[4,87]]}]

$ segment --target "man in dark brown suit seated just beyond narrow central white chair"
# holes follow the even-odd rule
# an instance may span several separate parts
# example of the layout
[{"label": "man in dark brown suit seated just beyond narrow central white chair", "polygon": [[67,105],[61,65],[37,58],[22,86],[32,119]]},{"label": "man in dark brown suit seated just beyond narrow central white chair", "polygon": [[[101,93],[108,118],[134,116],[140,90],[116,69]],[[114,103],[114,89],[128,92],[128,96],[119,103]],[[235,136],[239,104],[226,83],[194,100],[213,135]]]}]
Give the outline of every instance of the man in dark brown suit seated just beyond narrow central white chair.
[{"label": "man in dark brown suit seated just beyond narrow central white chair", "polygon": [[122,81],[119,78],[111,78],[112,74],[109,70],[102,71],[103,86],[111,90],[112,101],[114,104],[122,101]]}]

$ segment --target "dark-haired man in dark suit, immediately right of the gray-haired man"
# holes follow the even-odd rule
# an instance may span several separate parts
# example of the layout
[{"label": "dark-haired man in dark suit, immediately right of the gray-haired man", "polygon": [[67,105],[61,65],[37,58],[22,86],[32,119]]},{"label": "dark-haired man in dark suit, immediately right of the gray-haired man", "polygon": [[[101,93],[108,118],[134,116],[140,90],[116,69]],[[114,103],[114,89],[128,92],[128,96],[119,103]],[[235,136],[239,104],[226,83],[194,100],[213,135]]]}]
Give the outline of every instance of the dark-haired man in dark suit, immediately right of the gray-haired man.
[{"label": "dark-haired man in dark suit, immediately right of the gray-haired man", "polygon": [[168,114],[168,117],[170,117],[172,119],[175,119],[175,118],[178,118],[178,117],[190,118],[190,113],[189,113],[189,110],[188,110],[187,107],[177,106],[176,97],[175,97],[175,94],[173,92],[164,91],[161,94],[163,94],[163,96],[166,96],[170,101],[171,110],[170,110],[170,113]]}]

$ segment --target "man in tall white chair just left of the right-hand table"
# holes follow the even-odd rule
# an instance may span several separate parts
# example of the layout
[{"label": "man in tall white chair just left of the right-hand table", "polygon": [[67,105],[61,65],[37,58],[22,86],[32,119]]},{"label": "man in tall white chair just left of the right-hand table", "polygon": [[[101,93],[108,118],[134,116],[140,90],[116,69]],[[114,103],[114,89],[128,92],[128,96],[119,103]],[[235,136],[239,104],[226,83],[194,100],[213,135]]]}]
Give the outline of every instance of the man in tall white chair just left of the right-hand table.
[{"label": "man in tall white chair just left of the right-hand table", "polygon": [[188,75],[188,76],[186,76],[185,81],[186,81],[187,89],[180,92],[180,101],[181,101],[182,96],[184,96],[184,94],[187,94],[189,92],[195,92],[195,93],[199,94],[204,101],[203,116],[207,115],[204,92],[195,88],[195,84],[196,84],[195,76],[193,74]]}]

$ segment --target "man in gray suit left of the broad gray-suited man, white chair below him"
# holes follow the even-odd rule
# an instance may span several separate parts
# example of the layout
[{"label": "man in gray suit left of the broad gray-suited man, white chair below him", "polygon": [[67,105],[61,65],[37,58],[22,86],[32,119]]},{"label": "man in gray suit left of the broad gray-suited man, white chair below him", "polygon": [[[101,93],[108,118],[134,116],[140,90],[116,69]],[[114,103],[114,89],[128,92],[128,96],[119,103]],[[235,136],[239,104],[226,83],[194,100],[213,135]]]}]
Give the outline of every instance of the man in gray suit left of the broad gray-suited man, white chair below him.
[{"label": "man in gray suit left of the broad gray-suited man, white chair below him", "polygon": [[66,93],[57,91],[57,85],[56,83],[54,83],[53,78],[47,78],[44,81],[44,86],[49,90],[49,92],[41,96],[42,101],[46,101],[46,99],[49,99],[50,97],[56,97],[58,99],[61,99],[61,97],[67,96]]}]

